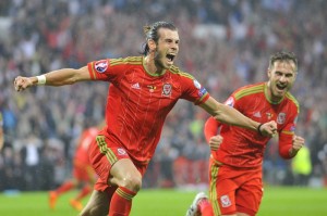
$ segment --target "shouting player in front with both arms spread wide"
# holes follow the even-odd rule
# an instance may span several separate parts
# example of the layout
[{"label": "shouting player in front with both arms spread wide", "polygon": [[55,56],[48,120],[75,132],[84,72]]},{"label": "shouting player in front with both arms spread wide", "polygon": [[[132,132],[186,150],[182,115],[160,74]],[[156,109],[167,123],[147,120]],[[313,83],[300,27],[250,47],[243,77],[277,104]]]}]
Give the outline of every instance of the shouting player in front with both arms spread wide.
[{"label": "shouting player in front with both arms spread wide", "polygon": [[165,118],[179,99],[193,102],[222,123],[268,137],[276,132],[274,120],[258,124],[217,102],[193,76],[173,65],[180,42],[173,24],[157,22],[145,26],[144,33],[143,56],[93,61],[78,69],[62,68],[14,79],[16,91],[36,85],[64,86],[85,80],[111,84],[106,127],[89,149],[99,178],[82,215],[130,214]]}]

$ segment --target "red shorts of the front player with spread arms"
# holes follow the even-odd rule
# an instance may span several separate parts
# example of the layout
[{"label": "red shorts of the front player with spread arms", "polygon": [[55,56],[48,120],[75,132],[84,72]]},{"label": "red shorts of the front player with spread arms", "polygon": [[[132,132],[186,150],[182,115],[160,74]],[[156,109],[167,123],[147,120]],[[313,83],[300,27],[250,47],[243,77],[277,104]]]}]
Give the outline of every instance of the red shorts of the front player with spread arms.
[{"label": "red shorts of the front player with spread arms", "polygon": [[[108,145],[107,143],[110,143]],[[126,153],[125,149],[120,144],[110,142],[105,136],[97,136],[96,140],[89,145],[89,161],[98,175],[94,189],[97,191],[106,191],[109,189],[108,179],[112,165],[122,158],[130,158],[137,170],[143,176],[147,164],[135,163]]]}]

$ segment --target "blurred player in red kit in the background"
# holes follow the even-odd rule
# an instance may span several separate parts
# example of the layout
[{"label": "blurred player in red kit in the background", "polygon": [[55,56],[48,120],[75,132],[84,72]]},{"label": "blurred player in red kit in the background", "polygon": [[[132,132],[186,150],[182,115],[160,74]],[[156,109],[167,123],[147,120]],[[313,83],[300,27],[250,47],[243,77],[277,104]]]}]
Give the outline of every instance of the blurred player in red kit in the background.
[{"label": "blurred player in red kit in the background", "polygon": [[97,127],[86,128],[82,132],[73,161],[73,178],[68,179],[56,190],[49,192],[49,206],[51,209],[55,209],[60,195],[78,187],[82,187],[82,189],[74,199],[70,200],[70,205],[78,212],[83,209],[81,201],[92,192],[92,187],[96,180],[96,174],[88,160],[88,151],[90,142],[96,139],[98,132],[99,129]]}]

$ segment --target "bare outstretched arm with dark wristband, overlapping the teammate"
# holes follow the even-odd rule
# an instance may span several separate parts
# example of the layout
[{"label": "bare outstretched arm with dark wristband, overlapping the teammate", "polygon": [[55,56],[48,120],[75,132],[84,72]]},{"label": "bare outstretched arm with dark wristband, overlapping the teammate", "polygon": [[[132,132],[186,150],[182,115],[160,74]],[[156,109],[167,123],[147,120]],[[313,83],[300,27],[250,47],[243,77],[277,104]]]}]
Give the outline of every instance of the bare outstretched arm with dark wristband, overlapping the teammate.
[{"label": "bare outstretched arm with dark wristband, overlapping the teammate", "polygon": [[206,110],[216,120],[219,120],[220,123],[234,125],[252,130],[258,130],[258,132],[264,136],[275,136],[277,132],[277,124],[274,120],[262,125],[244,116],[235,109],[219,103],[211,97],[199,106]]}]

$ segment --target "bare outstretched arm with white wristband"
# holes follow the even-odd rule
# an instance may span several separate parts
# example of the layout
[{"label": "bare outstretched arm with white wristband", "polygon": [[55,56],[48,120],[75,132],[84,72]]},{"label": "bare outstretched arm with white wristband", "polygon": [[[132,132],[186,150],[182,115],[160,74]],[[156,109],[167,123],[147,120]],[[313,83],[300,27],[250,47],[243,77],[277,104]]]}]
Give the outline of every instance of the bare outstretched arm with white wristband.
[{"label": "bare outstretched arm with white wristband", "polygon": [[90,76],[87,66],[78,69],[62,68],[40,76],[22,77],[17,76],[14,80],[16,91],[23,91],[32,86],[47,85],[47,86],[64,86],[72,85],[77,81],[89,80]]}]

